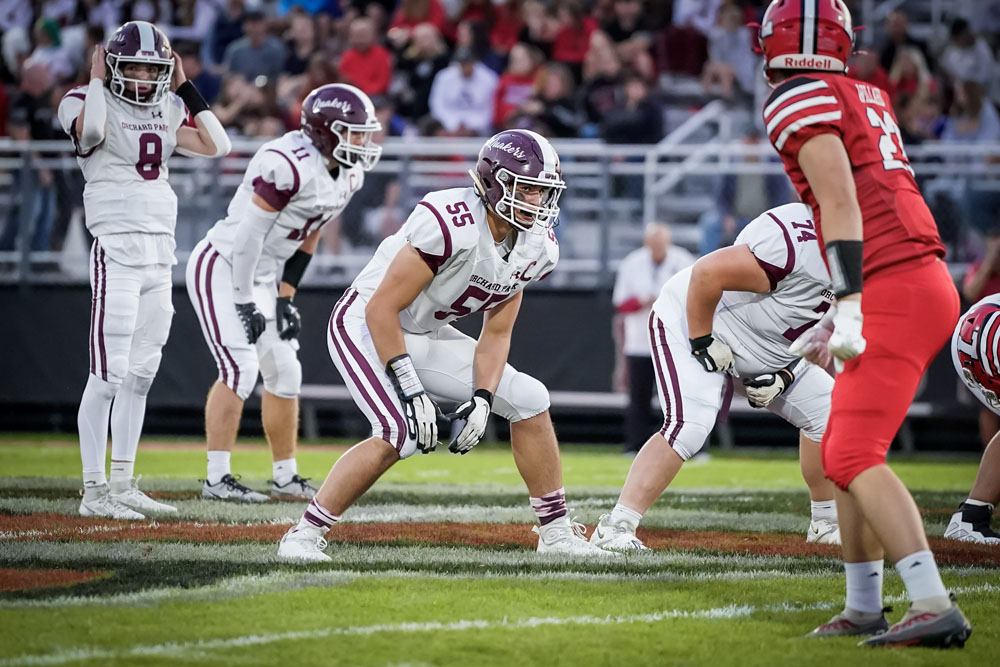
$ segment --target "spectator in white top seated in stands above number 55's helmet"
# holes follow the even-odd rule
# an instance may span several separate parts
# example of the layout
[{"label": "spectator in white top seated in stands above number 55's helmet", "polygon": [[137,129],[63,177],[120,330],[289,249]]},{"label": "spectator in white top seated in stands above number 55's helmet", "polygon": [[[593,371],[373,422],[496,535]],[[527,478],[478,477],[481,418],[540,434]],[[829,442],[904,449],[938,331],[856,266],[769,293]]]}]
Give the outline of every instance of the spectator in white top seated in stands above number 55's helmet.
[{"label": "spectator in white top seated in stands above number 55's helmet", "polygon": [[460,48],[452,64],[434,77],[431,116],[450,133],[488,135],[498,84],[493,70],[479,62],[470,49]]}]

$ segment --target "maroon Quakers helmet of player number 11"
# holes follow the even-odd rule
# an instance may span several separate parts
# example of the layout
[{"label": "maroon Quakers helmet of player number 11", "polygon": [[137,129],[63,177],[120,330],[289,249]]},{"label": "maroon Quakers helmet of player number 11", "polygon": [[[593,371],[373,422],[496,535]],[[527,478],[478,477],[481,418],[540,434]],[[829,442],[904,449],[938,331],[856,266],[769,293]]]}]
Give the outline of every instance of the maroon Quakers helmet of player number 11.
[{"label": "maroon Quakers helmet of player number 11", "polygon": [[382,129],[375,106],[363,91],[330,83],[309,93],[302,103],[302,132],[326,158],[369,171],[382,155],[374,134]]}]

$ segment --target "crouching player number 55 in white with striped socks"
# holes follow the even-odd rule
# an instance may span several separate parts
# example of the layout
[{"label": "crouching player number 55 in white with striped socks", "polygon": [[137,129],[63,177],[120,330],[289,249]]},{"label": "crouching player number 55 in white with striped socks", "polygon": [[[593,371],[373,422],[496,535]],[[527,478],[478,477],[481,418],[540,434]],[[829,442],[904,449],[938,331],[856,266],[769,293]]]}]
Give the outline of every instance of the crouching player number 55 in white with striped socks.
[{"label": "crouching player number 55 in white with striped socks", "polygon": [[[433,399],[461,403],[449,450],[465,454],[495,412],[541,524],[538,550],[608,555],[570,521],[549,396],[507,364],[522,289],[559,258],[552,225],[565,183],[549,142],[526,130],[490,138],[473,187],[428,193],[334,306],[330,356],[372,435],[333,466],[279,557],[325,561],[324,535],[393,464],[437,445]],[[484,311],[479,339],[452,326]]]}]

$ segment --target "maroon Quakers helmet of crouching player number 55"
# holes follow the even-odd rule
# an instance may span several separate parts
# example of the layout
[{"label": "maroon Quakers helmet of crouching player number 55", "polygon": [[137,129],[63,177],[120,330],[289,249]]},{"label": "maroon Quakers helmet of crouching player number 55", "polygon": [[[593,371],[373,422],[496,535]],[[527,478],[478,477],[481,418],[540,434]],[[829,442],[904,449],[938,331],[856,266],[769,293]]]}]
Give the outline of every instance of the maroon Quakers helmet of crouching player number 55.
[{"label": "maroon Quakers helmet of crouching player number 55", "polygon": [[[559,216],[559,196],[566,189],[559,156],[548,139],[530,130],[505,130],[493,135],[479,150],[469,175],[483,204],[514,227],[551,227]],[[525,185],[542,187],[538,205],[519,198]],[[521,195],[523,196],[523,195]],[[518,218],[522,213],[527,219]]]}]

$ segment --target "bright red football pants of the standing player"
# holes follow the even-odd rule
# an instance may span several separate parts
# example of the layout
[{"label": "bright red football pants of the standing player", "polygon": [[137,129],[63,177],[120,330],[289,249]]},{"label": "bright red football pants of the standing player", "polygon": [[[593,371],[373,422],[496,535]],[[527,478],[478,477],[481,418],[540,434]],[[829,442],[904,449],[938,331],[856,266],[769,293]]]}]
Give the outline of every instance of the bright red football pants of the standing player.
[{"label": "bright red football pants of the standing player", "polygon": [[823,471],[843,490],[886,461],[924,372],[950,339],[958,292],[941,261],[875,275],[861,298],[868,347],[833,385]]}]

